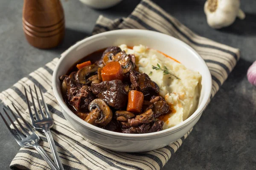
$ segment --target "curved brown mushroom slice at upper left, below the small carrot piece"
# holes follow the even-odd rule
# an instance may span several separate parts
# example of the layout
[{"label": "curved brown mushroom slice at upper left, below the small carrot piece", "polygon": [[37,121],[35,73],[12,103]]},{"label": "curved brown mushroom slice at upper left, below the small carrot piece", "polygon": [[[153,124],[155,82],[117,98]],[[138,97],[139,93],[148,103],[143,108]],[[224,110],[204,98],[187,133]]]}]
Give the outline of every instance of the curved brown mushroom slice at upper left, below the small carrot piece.
[{"label": "curved brown mushroom slice at upper left, below the small carrot piece", "polygon": [[99,66],[97,66],[97,65],[85,66],[81,70],[77,71],[77,73],[75,75],[75,81],[79,82],[81,84],[84,84],[84,85],[89,84],[90,81],[87,80],[87,78],[90,75],[97,74],[98,68],[99,68]]}]

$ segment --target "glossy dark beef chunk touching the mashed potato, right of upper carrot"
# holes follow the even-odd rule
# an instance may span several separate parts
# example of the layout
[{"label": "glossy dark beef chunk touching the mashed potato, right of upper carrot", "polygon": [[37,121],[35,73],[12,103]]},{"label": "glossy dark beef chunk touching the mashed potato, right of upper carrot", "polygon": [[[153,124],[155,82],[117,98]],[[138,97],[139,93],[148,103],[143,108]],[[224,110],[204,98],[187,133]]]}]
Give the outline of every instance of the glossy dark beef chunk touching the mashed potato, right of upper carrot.
[{"label": "glossy dark beef chunk touching the mashed potato, right of upper carrot", "polygon": [[145,73],[130,71],[130,80],[131,88],[133,90],[141,91],[144,96],[159,93],[159,87],[157,83],[153,82]]}]

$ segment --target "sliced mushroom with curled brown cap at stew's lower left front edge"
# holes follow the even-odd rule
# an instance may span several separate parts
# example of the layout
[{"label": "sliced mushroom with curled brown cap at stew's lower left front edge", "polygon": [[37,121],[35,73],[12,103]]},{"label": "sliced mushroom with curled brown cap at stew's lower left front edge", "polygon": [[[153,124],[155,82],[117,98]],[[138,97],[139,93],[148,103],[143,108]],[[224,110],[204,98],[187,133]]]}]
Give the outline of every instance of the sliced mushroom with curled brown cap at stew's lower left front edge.
[{"label": "sliced mushroom with curled brown cap at stew's lower left front edge", "polygon": [[112,111],[102,99],[94,99],[88,106],[90,111],[85,121],[92,125],[105,126],[112,119]]}]

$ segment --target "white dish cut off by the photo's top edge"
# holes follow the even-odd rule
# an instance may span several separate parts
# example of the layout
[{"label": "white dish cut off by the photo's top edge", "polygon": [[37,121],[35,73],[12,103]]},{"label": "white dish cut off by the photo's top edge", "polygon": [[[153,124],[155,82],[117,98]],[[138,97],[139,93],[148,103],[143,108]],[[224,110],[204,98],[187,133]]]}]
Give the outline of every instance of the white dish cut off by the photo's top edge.
[{"label": "white dish cut off by the photo's top edge", "polygon": [[96,9],[105,9],[115,6],[116,4],[120,3],[122,0],[80,0],[87,6]]}]

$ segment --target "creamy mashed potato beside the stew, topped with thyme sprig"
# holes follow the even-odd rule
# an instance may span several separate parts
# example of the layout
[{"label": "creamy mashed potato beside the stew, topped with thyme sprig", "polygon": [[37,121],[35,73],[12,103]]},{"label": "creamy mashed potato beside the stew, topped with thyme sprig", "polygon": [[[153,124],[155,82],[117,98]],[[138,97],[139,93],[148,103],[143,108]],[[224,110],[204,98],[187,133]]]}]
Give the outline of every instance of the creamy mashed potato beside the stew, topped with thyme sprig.
[{"label": "creamy mashed potato beside the stew, topped with thyme sprig", "polygon": [[[163,96],[173,106],[172,113],[169,113],[167,117],[159,118],[165,121],[163,129],[183,122],[195,111],[200,96],[198,84],[201,82],[201,74],[143,45],[134,46],[133,49],[128,48],[127,45],[119,47],[127,54],[135,55],[139,72],[148,74],[151,80],[159,86],[160,96]],[[170,74],[164,75],[161,70],[152,69],[152,65],[157,66],[157,63],[161,68],[166,66],[168,71],[180,79]]]}]

